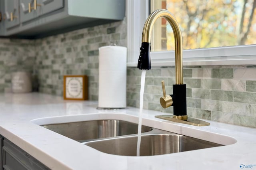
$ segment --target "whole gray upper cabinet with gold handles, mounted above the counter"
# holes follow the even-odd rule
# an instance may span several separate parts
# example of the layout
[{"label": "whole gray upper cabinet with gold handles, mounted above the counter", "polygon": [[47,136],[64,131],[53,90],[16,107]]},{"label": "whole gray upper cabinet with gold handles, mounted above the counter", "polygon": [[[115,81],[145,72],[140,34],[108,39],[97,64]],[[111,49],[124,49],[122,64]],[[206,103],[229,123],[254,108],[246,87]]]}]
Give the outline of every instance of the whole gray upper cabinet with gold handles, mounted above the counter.
[{"label": "whole gray upper cabinet with gold handles, mounted above the counter", "polygon": [[5,36],[23,38],[41,38],[107,24],[122,20],[125,14],[125,0],[5,0],[5,3],[8,14]]}]

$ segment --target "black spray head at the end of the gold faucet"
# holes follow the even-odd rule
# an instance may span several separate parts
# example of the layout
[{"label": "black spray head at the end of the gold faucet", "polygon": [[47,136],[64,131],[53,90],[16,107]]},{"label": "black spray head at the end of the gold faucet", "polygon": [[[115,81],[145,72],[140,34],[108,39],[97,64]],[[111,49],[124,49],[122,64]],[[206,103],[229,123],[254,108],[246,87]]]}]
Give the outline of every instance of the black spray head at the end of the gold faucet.
[{"label": "black spray head at the end of the gold faucet", "polygon": [[140,57],[138,59],[138,69],[150,70],[151,58],[150,58],[150,43],[142,42],[140,47]]}]

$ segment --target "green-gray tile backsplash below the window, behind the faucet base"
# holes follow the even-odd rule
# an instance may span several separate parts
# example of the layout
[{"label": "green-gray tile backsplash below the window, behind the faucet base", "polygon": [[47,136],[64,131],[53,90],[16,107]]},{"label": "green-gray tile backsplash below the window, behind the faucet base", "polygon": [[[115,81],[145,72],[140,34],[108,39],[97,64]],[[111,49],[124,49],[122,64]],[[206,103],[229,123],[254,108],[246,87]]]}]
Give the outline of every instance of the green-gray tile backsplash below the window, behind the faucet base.
[{"label": "green-gray tile backsplash below the window, behind the faucet base", "polygon": [[[224,65],[184,67],[187,93],[187,114],[234,125],[256,127],[256,66]],[[140,75],[137,68],[127,71],[127,102],[139,107]],[[161,81],[166,93],[172,94],[174,67],[154,67],[146,72],[144,109],[173,113],[163,109]]]}]

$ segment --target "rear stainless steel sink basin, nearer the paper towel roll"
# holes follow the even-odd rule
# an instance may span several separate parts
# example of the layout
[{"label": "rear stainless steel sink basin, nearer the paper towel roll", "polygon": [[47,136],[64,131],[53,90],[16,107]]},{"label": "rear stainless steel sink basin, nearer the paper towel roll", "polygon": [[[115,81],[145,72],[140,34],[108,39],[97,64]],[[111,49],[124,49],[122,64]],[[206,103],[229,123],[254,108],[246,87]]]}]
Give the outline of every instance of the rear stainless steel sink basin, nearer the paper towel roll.
[{"label": "rear stainless steel sink basin, nearer the paper towel roll", "polygon": [[[43,125],[42,127],[79,142],[138,133],[138,124],[119,120],[82,121]],[[142,126],[142,132],[150,130],[152,128]]]}]

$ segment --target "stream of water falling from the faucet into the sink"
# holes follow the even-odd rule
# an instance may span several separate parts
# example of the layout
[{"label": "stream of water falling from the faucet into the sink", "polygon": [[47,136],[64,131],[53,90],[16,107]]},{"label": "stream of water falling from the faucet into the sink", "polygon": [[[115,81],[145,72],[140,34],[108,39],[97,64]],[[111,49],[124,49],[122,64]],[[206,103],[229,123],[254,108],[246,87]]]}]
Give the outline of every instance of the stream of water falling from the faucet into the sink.
[{"label": "stream of water falling from the faucet into the sink", "polygon": [[146,70],[142,70],[141,82],[140,82],[140,113],[139,113],[139,123],[138,123],[137,156],[140,156],[140,141],[141,141],[142,110],[143,110],[145,78],[146,78]]}]

